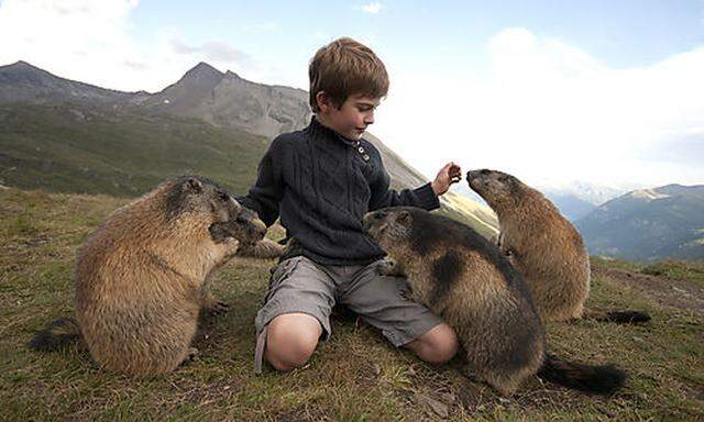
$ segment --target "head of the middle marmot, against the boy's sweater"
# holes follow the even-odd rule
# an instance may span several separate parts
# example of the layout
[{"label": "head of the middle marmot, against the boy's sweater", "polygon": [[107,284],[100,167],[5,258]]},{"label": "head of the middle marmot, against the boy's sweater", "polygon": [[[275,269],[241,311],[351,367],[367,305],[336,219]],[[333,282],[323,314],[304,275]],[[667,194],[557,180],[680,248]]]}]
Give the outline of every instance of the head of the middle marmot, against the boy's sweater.
[{"label": "head of the middle marmot, against the boy's sweater", "polygon": [[409,208],[385,208],[364,215],[364,232],[380,247],[389,252],[411,241],[414,211]]}]

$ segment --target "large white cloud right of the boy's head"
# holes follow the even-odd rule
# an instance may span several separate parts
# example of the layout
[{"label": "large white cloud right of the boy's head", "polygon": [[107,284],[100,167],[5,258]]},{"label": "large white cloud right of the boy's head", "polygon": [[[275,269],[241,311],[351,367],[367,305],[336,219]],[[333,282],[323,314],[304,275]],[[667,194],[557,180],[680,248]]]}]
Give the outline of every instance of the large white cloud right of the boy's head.
[{"label": "large white cloud right of the boy's head", "polygon": [[525,29],[486,48],[486,75],[389,68],[372,132],[428,176],[454,159],[537,185],[704,182],[704,166],[657,153],[704,126],[704,47],[631,69]]}]

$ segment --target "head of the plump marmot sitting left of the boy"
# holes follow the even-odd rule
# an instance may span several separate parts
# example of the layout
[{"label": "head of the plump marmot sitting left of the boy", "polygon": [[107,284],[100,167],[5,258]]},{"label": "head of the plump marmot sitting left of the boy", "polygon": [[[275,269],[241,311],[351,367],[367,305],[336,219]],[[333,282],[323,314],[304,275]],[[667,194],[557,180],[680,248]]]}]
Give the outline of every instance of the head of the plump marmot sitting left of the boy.
[{"label": "head of the plump marmot sitting left of the boy", "polygon": [[197,216],[208,223],[235,220],[242,206],[216,182],[200,176],[184,176],[167,182],[168,218]]}]

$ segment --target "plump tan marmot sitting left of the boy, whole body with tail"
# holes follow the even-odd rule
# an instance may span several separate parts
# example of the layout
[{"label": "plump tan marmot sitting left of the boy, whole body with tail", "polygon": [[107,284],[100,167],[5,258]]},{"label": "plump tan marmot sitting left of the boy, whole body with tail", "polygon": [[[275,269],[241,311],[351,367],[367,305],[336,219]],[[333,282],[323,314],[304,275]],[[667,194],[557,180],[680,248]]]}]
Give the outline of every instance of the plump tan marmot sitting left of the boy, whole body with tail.
[{"label": "plump tan marmot sitting left of the boy, whole body with tail", "polygon": [[190,352],[198,313],[220,310],[213,269],[264,223],[215,182],[169,179],[116,210],[90,233],[75,270],[76,322],[63,319],[30,345],[52,349],[82,337],[103,368],[131,376],[172,371]]}]

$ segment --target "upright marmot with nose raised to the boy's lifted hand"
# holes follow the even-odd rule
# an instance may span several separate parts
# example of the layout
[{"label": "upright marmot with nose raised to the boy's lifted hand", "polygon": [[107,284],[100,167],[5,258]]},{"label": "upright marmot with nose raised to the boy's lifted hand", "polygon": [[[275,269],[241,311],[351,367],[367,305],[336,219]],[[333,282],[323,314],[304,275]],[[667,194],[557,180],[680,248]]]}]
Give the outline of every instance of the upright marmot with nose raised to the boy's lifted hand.
[{"label": "upright marmot with nose raised to the boy's lifted hand", "polygon": [[[582,236],[542,193],[495,170],[468,173],[470,187],[498,215],[498,247],[522,275],[543,321],[584,315],[590,293],[590,258]],[[614,322],[644,322],[645,313],[587,312]]]}]

